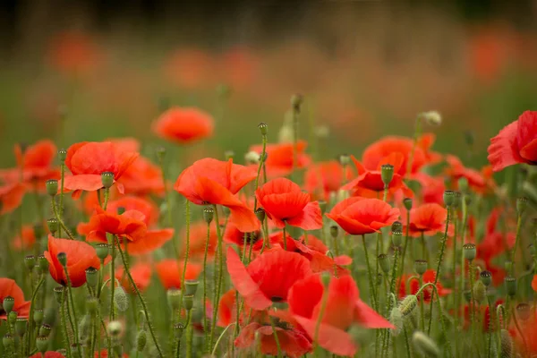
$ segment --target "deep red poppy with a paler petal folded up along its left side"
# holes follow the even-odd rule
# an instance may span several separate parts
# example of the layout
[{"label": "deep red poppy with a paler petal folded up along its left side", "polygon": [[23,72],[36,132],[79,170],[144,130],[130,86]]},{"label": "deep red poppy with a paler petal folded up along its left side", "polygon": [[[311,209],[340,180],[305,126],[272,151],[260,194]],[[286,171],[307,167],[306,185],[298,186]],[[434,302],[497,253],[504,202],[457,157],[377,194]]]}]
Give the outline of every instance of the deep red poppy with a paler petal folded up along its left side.
[{"label": "deep red poppy with a paler petal folded up along its left side", "polygon": [[310,262],[298,253],[275,250],[252,260],[247,268],[237,253],[227,249],[227,271],[234,287],[253,310],[265,310],[273,302],[286,302],[294,283],[311,275]]}]

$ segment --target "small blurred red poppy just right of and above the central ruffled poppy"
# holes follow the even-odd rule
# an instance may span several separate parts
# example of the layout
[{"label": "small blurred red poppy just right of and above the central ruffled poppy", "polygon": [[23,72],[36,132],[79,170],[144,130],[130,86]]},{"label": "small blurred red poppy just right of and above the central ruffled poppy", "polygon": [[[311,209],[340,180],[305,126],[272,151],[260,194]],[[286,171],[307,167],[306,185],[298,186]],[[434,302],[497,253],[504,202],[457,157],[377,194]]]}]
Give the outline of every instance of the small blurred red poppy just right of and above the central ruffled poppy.
[{"label": "small blurred red poppy just right of and above the central ruffled poppy", "polygon": [[352,177],[352,171],[345,170],[337,160],[315,163],[306,170],[304,188],[316,198],[328,200],[330,192],[337,192]]}]

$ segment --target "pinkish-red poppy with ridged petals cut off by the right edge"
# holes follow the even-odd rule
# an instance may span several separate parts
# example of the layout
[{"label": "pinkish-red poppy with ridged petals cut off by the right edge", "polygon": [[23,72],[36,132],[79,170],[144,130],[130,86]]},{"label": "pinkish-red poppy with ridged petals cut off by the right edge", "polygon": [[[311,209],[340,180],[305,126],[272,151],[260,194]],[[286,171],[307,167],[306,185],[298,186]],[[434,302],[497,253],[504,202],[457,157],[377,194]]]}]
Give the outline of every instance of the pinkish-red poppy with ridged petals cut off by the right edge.
[{"label": "pinkish-red poppy with ridged petals cut off by the right edge", "polygon": [[498,172],[517,163],[537,165],[537,111],[525,111],[490,140],[489,162]]}]

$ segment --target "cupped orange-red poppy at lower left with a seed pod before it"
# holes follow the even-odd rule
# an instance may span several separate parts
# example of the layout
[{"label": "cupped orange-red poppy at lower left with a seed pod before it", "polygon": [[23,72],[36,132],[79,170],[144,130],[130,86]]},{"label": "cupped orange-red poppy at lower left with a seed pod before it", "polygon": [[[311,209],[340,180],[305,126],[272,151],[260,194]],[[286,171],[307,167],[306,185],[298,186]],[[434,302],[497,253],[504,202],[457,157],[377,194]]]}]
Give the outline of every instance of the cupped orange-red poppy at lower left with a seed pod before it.
[{"label": "cupped orange-red poppy at lower left with a seed pod before it", "polygon": [[80,287],[86,283],[87,268],[100,268],[97,252],[89,243],[56,239],[48,235],[48,251],[45,251],[44,255],[49,263],[50,276],[60,285],[67,286],[64,267],[57,258],[60,252],[67,255],[67,272],[73,287]]}]

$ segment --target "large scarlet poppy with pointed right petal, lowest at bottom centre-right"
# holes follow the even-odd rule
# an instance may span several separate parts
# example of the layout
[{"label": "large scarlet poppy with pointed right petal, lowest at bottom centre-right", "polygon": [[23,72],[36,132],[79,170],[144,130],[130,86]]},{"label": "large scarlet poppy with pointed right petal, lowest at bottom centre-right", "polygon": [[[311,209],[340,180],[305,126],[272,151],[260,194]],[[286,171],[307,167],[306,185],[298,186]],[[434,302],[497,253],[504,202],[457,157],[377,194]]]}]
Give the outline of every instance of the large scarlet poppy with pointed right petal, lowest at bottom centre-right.
[{"label": "large scarlet poppy with pointed right petal, lowest at bottom centre-right", "polygon": [[[289,310],[308,336],[317,339],[318,344],[329,352],[339,355],[356,353],[353,337],[346,333],[354,323],[365,328],[394,328],[360,300],[353,277],[332,278],[328,292],[325,290],[318,275],[298,281],[289,293]],[[326,300],[324,311],[321,309],[323,300]]]}]

